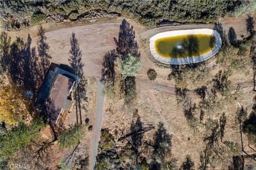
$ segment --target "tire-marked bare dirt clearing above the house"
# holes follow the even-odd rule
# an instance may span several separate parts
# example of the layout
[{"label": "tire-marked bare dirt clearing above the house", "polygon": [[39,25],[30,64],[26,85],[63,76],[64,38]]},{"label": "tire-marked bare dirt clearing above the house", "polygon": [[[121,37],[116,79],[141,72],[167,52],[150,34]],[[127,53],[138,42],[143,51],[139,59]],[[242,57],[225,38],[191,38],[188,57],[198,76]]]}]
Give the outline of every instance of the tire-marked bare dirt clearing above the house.
[{"label": "tire-marked bare dirt clearing above the house", "polygon": [[[46,42],[50,46],[52,62],[69,64],[70,37],[72,33],[79,42],[84,63],[84,75],[100,77],[102,58],[109,49],[115,48],[114,37],[118,35],[119,23],[102,23],[62,28],[46,32]],[[32,46],[38,39],[33,38]]]}]

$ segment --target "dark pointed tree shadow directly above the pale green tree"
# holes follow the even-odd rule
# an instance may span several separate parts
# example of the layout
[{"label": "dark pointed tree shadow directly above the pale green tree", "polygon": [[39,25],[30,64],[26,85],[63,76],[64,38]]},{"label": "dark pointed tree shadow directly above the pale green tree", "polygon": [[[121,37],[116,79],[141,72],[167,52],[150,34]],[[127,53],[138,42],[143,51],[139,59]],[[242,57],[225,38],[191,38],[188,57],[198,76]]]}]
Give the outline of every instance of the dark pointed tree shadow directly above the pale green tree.
[{"label": "dark pointed tree shadow directly above the pale green tree", "polygon": [[118,40],[114,38],[116,43],[116,51],[121,55],[122,59],[127,55],[140,57],[138,52],[138,43],[135,41],[135,31],[125,19],[122,21],[119,30]]}]

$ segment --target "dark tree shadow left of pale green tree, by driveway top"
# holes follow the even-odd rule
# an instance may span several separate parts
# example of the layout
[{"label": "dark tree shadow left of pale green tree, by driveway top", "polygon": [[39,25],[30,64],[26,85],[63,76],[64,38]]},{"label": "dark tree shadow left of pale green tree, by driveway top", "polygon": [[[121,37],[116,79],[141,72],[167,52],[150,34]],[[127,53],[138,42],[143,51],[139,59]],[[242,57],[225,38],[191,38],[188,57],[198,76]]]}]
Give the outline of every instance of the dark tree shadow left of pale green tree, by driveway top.
[{"label": "dark tree shadow left of pale green tree, by driveway top", "polygon": [[117,58],[116,50],[111,50],[103,58],[103,68],[101,70],[101,82],[105,84],[106,82],[111,82],[115,84],[115,60]]}]

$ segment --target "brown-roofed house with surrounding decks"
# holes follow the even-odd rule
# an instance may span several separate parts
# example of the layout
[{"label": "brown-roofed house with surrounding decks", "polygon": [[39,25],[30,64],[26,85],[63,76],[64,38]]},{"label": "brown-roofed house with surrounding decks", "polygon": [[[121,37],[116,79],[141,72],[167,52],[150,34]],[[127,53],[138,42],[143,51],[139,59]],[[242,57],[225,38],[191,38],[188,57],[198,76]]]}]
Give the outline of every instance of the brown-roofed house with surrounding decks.
[{"label": "brown-roofed house with surrounding decks", "polygon": [[51,63],[37,95],[44,118],[51,125],[61,125],[73,103],[80,78],[68,65]]}]

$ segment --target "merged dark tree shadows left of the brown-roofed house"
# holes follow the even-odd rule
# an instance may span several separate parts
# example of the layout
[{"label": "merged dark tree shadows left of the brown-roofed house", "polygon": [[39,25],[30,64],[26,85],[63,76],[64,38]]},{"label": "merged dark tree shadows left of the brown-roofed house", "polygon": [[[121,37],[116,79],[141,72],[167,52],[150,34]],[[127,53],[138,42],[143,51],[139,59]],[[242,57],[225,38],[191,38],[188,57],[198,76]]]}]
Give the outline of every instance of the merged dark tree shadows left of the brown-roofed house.
[{"label": "merged dark tree shadows left of the brown-roofed house", "polygon": [[50,65],[49,45],[43,33],[42,25],[38,30],[38,48],[31,48],[31,37],[27,42],[17,37],[11,44],[6,33],[1,33],[1,71],[8,71],[12,81],[22,90],[32,90],[34,94],[43,82],[44,75]]}]

